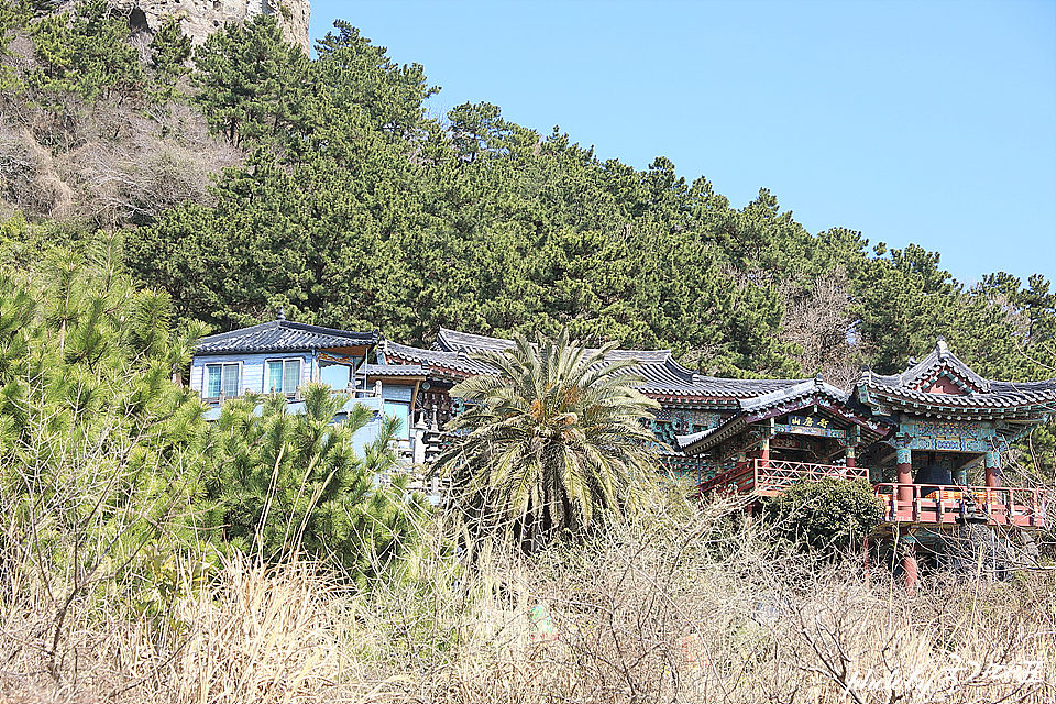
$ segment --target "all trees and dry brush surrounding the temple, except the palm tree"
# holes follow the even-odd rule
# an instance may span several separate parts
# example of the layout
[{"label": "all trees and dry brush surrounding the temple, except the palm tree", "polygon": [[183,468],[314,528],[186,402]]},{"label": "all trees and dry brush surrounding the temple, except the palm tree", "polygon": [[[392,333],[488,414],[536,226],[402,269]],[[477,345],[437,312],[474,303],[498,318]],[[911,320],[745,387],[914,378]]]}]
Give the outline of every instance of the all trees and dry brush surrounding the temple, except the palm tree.
[{"label": "all trees and dry brush surrounding the temple, except the palm tree", "polygon": [[[375,482],[387,436],[355,455],[362,418],[331,426],[329,393],[207,424],[178,382],[207,329],[279,306],[844,385],[945,334],[983,375],[1036,380],[1056,376],[1043,276],[965,287],[919,246],[806,232],[766,190],[733,207],[486,102],[431,117],[424,68],[349,24],[309,59],[267,18],[193,50],[101,0],[48,7],[0,0],[0,698],[1056,697],[1050,562],[908,596],[894,556],[866,585],[860,557],[656,482],[537,554],[460,542],[406,477]],[[1050,429],[1016,481],[1052,486]]]}]

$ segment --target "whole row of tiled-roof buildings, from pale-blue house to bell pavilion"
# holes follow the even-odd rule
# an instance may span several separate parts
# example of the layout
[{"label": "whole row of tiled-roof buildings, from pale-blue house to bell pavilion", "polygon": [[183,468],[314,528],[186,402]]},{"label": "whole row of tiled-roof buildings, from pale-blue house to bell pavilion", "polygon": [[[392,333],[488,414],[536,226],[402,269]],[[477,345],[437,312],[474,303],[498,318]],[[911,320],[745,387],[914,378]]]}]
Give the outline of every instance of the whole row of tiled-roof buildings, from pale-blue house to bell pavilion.
[{"label": "whole row of tiled-roof buildings, from pale-blue house to bell pavilion", "polygon": [[[494,374],[474,353],[509,340],[441,328],[432,349],[398,344],[377,332],[345,332],[278,320],[206,338],[191,365],[191,387],[218,404],[245,391],[286,394],[317,381],[403,421],[403,455],[416,465],[444,442],[444,424],[462,410],[450,395],[462,380]],[[371,359],[374,362],[371,362]],[[745,496],[749,510],[801,482],[867,480],[883,504],[869,537],[895,547],[909,584],[917,548],[953,556],[966,535],[991,547],[1042,528],[1054,497],[1003,482],[1010,446],[1056,413],[1056,380],[1011,383],[974,372],[938,339],[901,374],[866,370],[853,389],[820,376],[733,380],[697,374],[670,350],[625,351],[638,389],[660,408],[650,421],[666,472],[702,495]],[[1056,505],[1056,504],[1053,504]],[[978,542],[978,540],[977,540]],[[993,549],[990,563],[997,564]],[[958,557],[959,556],[959,557]],[[942,565],[939,565],[942,566]]]}]

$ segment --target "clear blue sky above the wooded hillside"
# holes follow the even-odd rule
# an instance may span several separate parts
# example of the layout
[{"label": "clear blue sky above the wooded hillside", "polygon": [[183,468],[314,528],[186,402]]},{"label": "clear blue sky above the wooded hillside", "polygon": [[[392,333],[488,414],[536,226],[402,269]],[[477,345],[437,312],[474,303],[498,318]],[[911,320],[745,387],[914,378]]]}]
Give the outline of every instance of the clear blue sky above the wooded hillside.
[{"label": "clear blue sky above the wooded hillside", "polygon": [[487,101],[639,169],[667,156],[811,232],[1056,278],[1056,0],[314,0],[419,63],[435,114]]}]

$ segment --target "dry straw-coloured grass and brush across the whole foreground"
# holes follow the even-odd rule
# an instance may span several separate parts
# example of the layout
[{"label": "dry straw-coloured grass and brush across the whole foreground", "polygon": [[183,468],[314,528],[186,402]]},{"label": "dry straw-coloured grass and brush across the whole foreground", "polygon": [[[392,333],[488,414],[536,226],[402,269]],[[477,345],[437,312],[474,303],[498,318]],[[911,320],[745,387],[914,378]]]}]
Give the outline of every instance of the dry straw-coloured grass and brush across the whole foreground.
[{"label": "dry straw-coloured grass and brush across the whole foreground", "polygon": [[912,598],[882,578],[866,590],[853,560],[825,566],[763,552],[758,527],[733,528],[726,508],[659,515],[534,560],[484,546],[470,565],[438,542],[414,579],[370,594],[306,562],[234,558],[208,579],[178,562],[178,587],[153,616],[130,617],[117,585],[76,603],[57,679],[46,662],[54,604],[9,583],[2,693],[174,703],[1056,701],[1050,574],[936,581]]}]

